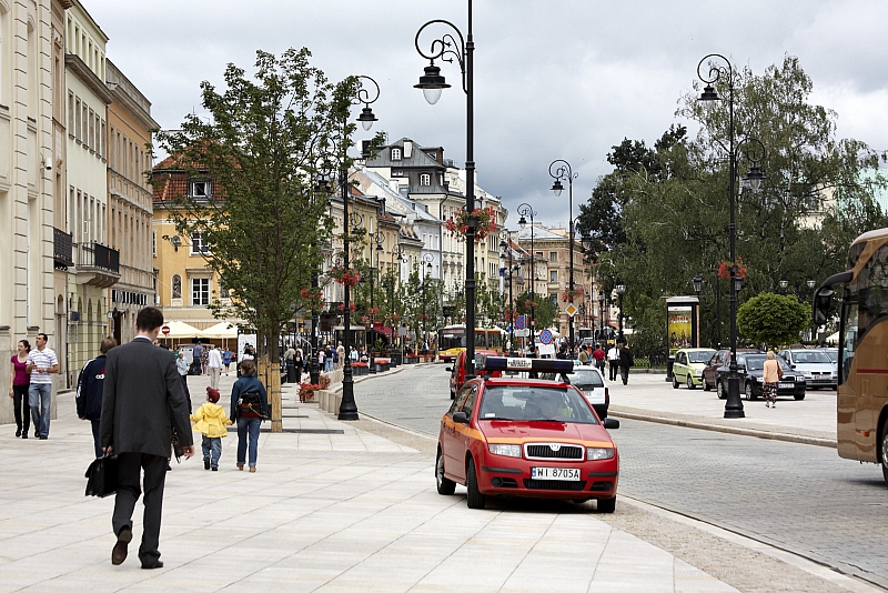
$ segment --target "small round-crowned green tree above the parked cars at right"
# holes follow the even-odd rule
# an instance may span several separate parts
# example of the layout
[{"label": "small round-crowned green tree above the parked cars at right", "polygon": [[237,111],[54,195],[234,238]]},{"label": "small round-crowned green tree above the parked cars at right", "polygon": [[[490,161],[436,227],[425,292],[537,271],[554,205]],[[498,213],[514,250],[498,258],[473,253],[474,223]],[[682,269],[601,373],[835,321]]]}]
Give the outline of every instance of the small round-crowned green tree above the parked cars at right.
[{"label": "small round-crowned green tree above the parked cars at right", "polygon": [[737,329],[756,343],[769,346],[791,344],[808,326],[811,308],[796,296],[763,292],[737,310]]}]

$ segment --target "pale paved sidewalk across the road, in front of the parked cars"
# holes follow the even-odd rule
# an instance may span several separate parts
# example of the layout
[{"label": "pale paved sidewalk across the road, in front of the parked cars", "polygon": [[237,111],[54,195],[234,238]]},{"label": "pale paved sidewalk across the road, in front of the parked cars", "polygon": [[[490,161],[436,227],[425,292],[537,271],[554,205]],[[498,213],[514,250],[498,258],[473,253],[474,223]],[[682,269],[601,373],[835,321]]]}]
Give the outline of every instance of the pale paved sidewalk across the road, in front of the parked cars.
[{"label": "pale paved sidewalk across the road, in front of the parked cars", "polygon": [[764,400],[743,400],[746,418],[726,420],[726,400],[719,400],[715,391],[685,385],[673,389],[665,378],[636,373],[629,375],[628,385],[619,380],[608,382],[610,415],[836,446],[835,391],[808,391],[801,401],[781,398],[777,408],[765,408]]}]

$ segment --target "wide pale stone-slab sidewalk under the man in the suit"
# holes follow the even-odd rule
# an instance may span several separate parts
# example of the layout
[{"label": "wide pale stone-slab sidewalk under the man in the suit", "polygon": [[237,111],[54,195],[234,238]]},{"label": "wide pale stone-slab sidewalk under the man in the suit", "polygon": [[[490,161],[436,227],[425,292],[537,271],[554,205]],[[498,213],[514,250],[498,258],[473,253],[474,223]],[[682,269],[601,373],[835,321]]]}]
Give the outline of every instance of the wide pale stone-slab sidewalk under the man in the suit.
[{"label": "wide pale stone-slab sidewalk under the man in the suit", "polygon": [[[190,378],[195,406],[205,385]],[[113,501],[83,496],[92,436],[72,394],[48,441],[2,426],[0,591],[736,591],[593,503],[471,511],[435,492],[427,453],[284,398],[293,432],[262,433],[256,473],[234,468],[235,434],[219,472],[173,462],[157,571],[139,569],[138,541],[111,565]],[[141,505],[134,520],[139,537]]]}]

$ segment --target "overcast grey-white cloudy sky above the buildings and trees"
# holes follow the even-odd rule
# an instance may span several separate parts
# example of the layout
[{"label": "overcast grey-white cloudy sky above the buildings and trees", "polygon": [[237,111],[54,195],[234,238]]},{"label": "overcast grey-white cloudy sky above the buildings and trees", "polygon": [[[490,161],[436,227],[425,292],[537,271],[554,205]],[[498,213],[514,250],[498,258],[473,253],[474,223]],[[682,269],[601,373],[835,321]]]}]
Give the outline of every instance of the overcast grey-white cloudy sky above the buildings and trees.
[{"label": "overcast grey-white cloudy sky above the buildings and trees", "polygon": [[[416,31],[445,19],[465,34],[465,0],[81,1],[110,38],[108,57],[163,128],[201,112],[199,83],[221,86],[226,63],[249,70],[256,49],[306,47],[331,80],[366,74],[380,83],[373,131],[442,145],[464,164],[458,68],[441,64],[453,88],[435,105],[413,84],[427,63],[414,48]],[[529,202],[544,223],[566,225],[567,192],[549,191],[549,162],[565,159],[579,174],[577,215],[610,170],[612,145],[624,137],[652,145],[679,121],[677,101],[708,53],[756,74],[797,56],[814,81],[813,101],[838,112],[838,135],[886,150],[886,23],[885,0],[475,0],[478,183],[513,213]],[[359,127],[355,140],[370,135]]]}]

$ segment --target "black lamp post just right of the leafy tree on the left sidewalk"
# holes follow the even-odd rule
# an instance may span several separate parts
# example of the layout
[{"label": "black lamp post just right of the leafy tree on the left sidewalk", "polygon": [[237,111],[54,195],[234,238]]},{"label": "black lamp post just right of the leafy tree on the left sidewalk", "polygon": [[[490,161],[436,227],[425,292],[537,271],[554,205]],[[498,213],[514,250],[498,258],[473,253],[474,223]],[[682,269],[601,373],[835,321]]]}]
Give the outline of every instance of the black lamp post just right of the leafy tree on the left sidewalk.
[{"label": "black lamp post just right of the leafy tree on the left sidewalk", "polygon": [[[357,90],[357,101],[364,103],[364,109],[359,115],[357,121],[361,122],[361,125],[364,130],[370,130],[373,125],[373,122],[376,121],[375,115],[373,115],[373,111],[370,109],[370,104],[376,101],[380,98],[380,86],[376,84],[376,81],[370,77],[357,77],[361,80],[367,80],[373,83],[373,88],[371,90],[365,90],[361,87]],[[342,191],[342,252],[343,252],[343,265],[347,269],[350,259],[349,259],[349,222],[351,222],[351,218],[349,217],[349,194],[351,193],[349,189],[349,171],[345,168],[345,154],[343,153],[341,157],[342,167],[340,167],[340,191]],[[359,420],[357,416],[357,404],[354,401],[354,379],[352,374],[352,356],[351,356],[351,302],[350,302],[350,287],[349,283],[343,283],[345,289],[345,295],[343,298],[343,348],[345,349],[345,360],[343,361],[342,366],[342,403],[340,404],[340,413],[339,420]],[[334,344],[335,346],[335,344]]]}]

